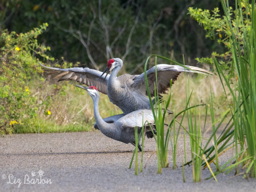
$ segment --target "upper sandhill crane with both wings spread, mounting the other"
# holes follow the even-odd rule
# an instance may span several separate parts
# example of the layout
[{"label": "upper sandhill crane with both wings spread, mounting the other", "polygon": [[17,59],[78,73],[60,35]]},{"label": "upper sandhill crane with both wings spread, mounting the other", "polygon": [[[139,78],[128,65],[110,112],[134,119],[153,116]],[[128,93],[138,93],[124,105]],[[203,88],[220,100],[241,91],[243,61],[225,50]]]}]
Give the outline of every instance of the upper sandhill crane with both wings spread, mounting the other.
[{"label": "upper sandhill crane with both wings spread, mounting the other", "polygon": [[[50,69],[50,73],[48,74],[57,74],[54,78],[61,77],[58,81],[69,79],[88,86],[94,85],[98,87],[99,92],[107,94],[109,100],[123,111],[123,114],[120,115],[125,115],[139,109],[150,109],[149,98],[146,93],[144,73],[141,75],[123,74],[117,77],[117,74],[123,65],[123,61],[120,58],[110,59],[107,62],[107,68],[103,73],[89,68],[59,69],[46,67],[42,64],[40,65]],[[194,66],[186,65],[186,67],[191,70],[185,69],[183,66],[179,65],[157,65],[157,86],[159,95],[162,93],[167,94],[167,91],[170,88],[170,80],[172,79],[173,84],[181,72],[186,71],[212,74],[207,70]],[[109,75],[108,73],[111,70],[113,70],[113,72]],[[103,77],[105,72],[107,73],[105,77]],[[154,83],[156,82],[155,66],[147,70],[147,78],[151,97],[154,97]],[[160,97],[162,96],[160,95]],[[115,116],[109,117],[108,120],[111,122],[114,119]]]}]

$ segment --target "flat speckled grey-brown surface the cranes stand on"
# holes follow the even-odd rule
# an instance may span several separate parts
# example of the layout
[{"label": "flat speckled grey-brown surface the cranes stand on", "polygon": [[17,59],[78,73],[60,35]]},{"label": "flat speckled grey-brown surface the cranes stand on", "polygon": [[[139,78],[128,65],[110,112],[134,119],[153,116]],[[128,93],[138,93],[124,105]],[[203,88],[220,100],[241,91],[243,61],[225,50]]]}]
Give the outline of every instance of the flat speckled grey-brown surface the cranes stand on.
[{"label": "flat speckled grey-brown surface the cranes stand on", "polygon": [[[204,180],[211,175],[205,169],[202,182],[193,183],[189,166],[185,167],[183,183],[182,135],[178,141],[178,168],[164,168],[162,174],[157,174],[154,154],[143,172],[135,176],[134,165],[128,168],[134,147],[109,139],[99,131],[5,136],[0,138],[0,191],[256,191],[255,179],[246,180],[242,175],[231,179],[234,172],[219,174],[216,183],[214,179]],[[189,148],[187,138],[188,159]],[[146,139],[144,165],[153,151],[154,139]],[[220,163],[233,153],[229,150],[221,156]],[[171,151],[168,155],[172,164]],[[40,169],[44,172],[41,183],[37,173]],[[45,183],[47,180],[52,183]]]}]

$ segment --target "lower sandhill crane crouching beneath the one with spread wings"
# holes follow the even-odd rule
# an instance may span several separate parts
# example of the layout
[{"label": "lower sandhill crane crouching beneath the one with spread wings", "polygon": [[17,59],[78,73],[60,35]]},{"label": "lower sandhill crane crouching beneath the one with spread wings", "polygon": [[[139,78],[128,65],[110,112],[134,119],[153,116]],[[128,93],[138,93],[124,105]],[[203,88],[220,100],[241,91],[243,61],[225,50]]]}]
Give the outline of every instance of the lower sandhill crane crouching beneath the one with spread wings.
[{"label": "lower sandhill crane crouching beneath the one with spread wings", "polygon": [[[89,95],[92,97],[96,124],[99,130],[107,137],[121,141],[126,144],[131,143],[135,146],[135,127],[138,128],[138,133],[140,133],[142,130],[142,126],[144,125],[147,138],[152,138],[153,133],[151,131],[151,128],[149,127],[150,124],[154,131],[154,134],[156,134],[156,129],[154,127],[154,117],[151,109],[140,109],[137,111],[133,111],[127,115],[124,115],[121,118],[115,119],[113,123],[106,123],[99,115],[99,93],[97,88],[94,86],[76,86],[88,91]],[[172,111],[167,111],[168,115],[171,113]],[[142,143],[140,138],[138,143],[139,151],[141,151],[141,147]]]}]

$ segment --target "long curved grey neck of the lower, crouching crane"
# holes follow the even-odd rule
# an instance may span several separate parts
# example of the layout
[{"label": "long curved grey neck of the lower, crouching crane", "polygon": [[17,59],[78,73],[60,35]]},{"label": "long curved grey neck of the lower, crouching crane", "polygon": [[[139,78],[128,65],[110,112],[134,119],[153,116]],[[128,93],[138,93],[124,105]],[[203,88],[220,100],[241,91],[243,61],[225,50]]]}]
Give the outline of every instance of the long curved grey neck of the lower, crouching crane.
[{"label": "long curved grey neck of the lower, crouching crane", "polygon": [[93,111],[94,118],[99,130],[106,136],[111,135],[113,131],[113,126],[111,123],[106,123],[99,115],[99,97],[93,99]]}]

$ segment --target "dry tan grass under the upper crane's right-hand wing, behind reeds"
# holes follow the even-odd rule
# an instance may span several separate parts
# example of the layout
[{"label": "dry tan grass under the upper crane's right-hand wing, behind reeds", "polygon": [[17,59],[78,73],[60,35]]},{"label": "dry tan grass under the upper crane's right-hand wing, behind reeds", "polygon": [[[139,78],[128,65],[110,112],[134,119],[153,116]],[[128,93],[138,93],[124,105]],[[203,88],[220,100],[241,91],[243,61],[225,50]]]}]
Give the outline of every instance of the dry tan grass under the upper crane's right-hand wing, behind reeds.
[{"label": "dry tan grass under the upper crane's right-hand wing, behind reeds", "polygon": [[[209,103],[211,95],[214,96],[215,114],[222,114],[228,107],[228,100],[225,98],[222,84],[218,75],[197,75],[197,74],[186,74],[187,81],[190,84],[190,91],[192,91],[191,105],[198,105],[201,103]],[[177,81],[171,88],[171,103],[170,109],[176,111],[182,111],[186,106],[186,76],[182,73]],[[202,113],[201,113],[202,114]]]}]

